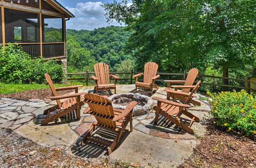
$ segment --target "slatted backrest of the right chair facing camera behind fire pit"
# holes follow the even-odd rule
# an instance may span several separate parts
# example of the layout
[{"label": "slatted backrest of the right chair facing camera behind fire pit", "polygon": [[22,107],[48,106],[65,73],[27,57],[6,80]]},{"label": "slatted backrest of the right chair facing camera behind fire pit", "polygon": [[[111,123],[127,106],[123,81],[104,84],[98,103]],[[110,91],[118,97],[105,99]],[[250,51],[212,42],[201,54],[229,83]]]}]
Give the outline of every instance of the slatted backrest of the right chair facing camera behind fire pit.
[{"label": "slatted backrest of the right chair facing camera behind fire pit", "polygon": [[152,77],[157,75],[158,65],[154,62],[149,62],[144,65],[144,83],[152,83]]}]

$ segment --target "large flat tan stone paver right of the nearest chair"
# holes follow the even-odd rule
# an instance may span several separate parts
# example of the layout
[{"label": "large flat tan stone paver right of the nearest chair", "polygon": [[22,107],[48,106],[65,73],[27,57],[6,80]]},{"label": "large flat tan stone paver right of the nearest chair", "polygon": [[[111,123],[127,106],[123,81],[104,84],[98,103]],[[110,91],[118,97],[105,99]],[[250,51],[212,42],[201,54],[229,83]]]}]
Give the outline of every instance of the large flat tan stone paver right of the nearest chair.
[{"label": "large flat tan stone paver right of the nearest chair", "polygon": [[[139,131],[131,132],[110,155],[125,162],[140,162],[154,167],[173,167],[181,164],[193,153],[197,140],[165,139],[153,137]],[[125,153],[124,153],[125,151]]]}]

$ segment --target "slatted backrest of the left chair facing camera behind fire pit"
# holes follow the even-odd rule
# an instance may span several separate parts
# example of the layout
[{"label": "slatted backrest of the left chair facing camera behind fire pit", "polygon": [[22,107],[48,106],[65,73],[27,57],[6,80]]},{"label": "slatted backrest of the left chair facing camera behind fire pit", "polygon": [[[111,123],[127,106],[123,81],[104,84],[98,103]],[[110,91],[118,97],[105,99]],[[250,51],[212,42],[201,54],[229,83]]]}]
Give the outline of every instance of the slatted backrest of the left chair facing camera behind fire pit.
[{"label": "slatted backrest of the left chair facing camera behind fire pit", "polygon": [[97,63],[93,66],[98,85],[110,84],[109,65],[105,63]]}]

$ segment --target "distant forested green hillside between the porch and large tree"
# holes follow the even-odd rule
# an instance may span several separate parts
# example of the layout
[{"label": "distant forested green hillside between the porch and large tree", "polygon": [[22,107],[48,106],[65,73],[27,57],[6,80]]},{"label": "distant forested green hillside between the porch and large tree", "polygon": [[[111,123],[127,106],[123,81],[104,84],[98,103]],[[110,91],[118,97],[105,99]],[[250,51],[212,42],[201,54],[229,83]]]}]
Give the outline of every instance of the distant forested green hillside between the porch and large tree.
[{"label": "distant forested green hillside between the porch and large tree", "polygon": [[[87,30],[67,30],[67,51],[69,72],[93,70],[93,65],[104,62],[110,71],[131,68],[131,55],[125,54],[125,43],[130,33],[121,26],[108,26]],[[121,67],[125,63],[125,67]]]}]

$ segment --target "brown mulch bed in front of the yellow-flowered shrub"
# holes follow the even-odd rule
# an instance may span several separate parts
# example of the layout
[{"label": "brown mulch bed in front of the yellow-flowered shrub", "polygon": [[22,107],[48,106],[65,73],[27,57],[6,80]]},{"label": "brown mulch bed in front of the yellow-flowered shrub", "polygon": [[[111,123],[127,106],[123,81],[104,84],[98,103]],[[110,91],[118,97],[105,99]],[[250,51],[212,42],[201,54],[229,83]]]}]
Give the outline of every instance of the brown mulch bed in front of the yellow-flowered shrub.
[{"label": "brown mulch bed in front of the yellow-flowered shrub", "polygon": [[206,123],[202,142],[179,167],[255,167],[256,143],[254,137],[225,132],[212,121]]}]

